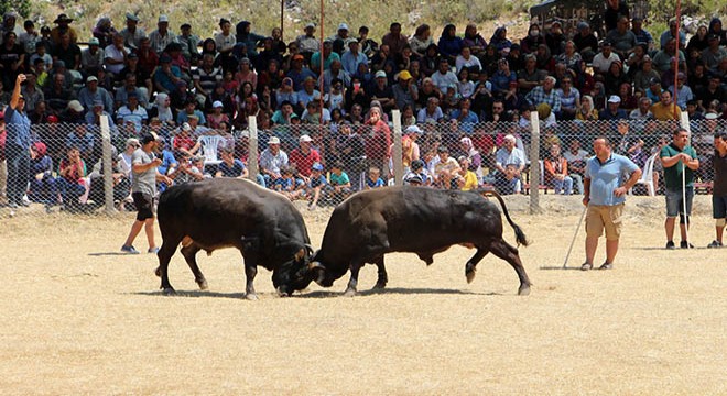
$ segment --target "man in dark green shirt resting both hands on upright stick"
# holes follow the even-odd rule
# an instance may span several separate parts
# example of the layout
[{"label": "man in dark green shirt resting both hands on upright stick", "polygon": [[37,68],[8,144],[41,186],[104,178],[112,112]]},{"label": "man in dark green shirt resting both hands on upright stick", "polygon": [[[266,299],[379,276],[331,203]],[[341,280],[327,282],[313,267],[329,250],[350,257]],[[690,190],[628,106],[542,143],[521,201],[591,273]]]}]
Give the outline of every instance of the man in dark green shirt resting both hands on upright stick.
[{"label": "man in dark green shirt resting both hands on upright stick", "polygon": [[699,168],[699,160],[694,147],[687,145],[688,142],[690,132],[679,128],[674,130],[672,143],[663,146],[659,153],[661,164],[664,167],[664,185],[666,186],[664,194],[666,197],[666,221],[664,222],[666,249],[675,248],[673,238],[674,222],[677,215],[682,237],[680,246],[682,249],[694,248],[687,241],[686,229],[690,223],[692,199],[694,198],[694,170]]}]

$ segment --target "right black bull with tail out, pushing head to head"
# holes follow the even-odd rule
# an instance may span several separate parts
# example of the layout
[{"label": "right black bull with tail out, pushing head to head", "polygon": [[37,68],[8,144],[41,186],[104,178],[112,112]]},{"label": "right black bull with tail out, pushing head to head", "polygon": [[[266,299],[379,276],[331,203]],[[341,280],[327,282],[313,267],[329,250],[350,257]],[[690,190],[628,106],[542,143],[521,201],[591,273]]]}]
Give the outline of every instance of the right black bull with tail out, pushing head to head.
[{"label": "right black bull with tail out, pushing head to head", "polygon": [[[510,219],[502,198],[492,193],[518,244],[525,235]],[[433,255],[454,244],[477,249],[465,265],[467,282],[475,278],[477,263],[489,252],[507,261],[520,278],[518,294],[530,293],[530,279],[518,249],[502,239],[502,217],[498,207],[479,193],[436,190],[423,187],[390,187],[358,193],[336,207],[326,227],[323,245],[311,264],[296,268],[283,290],[307,287],[312,280],[329,287],[348,270],[351,277],[346,295],[355,295],[358,273],[367,263],[376,264],[376,287],[388,280],[383,255],[390,252],[416,253],[427,265]]]}]

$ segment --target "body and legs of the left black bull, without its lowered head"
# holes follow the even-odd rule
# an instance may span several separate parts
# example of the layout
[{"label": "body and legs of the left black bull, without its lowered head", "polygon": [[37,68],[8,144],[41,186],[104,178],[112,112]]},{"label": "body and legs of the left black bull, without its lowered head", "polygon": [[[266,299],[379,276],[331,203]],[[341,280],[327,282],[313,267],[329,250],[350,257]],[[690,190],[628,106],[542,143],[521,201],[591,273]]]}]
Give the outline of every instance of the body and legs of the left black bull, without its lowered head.
[{"label": "body and legs of the left black bull, without its lowered head", "polygon": [[158,217],[163,243],[156,275],[167,293],[174,292],[167,268],[180,244],[202,289],[207,280],[197,266],[197,252],[237,248],[245,258],[248,299],[257,298],[258,265],[273,272],[273,285],[279,287],[290,278],[285,273],[294,264],[307,265],[312,253],[297,209],[282,195],[248,180],[209,179],[171,187],[160,197]]}]

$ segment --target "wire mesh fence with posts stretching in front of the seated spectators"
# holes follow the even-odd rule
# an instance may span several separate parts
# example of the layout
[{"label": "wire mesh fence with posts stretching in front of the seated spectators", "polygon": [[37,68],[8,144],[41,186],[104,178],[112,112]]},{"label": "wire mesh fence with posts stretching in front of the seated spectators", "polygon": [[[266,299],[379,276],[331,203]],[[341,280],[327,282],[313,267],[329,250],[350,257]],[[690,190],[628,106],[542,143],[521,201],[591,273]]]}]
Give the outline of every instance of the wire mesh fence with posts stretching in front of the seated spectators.
[{"label": "wire mesh fence with posts stretching in front of the seated spectators", "polygon": [[[293,200],[317,205],[335,205],[357,190],[387,185],[486,187],[502,195],[530,194],[531,211],[538,212],[542,194],[583,194],[584,165],[597,136],[608,138],[614,152],[644,170],[632,194],[663,194],[659,152],[680,127],[676,121],[653,120],[555,122],[540,120],[538,112],[523,113],[518,122],[402,125],[398,111],[392,119],[259,128],[250,118],[248,129],[231,133],[203,127],[34,124],[28,169],[18,170],[13,163],[23,154],[11,152],[14,144],[6,143],[0,151],[0,200],[12,215],[26,216],[134,210],[131,154],[139,146],[137,139],[154,131],[162,141],[156,155],[164,162],[159,170],[173,175],[175,184],[248,177]],[[699,157],[696,191],[710,194],[713,136],[727,130],[727,121],[682,122]],[[238,161],[242,166],[236,165]],[[165,188],[159,185],[160,191]],[[20,207],[45,210],[15,209],[8,205],[13,196],[22,197]]]}]

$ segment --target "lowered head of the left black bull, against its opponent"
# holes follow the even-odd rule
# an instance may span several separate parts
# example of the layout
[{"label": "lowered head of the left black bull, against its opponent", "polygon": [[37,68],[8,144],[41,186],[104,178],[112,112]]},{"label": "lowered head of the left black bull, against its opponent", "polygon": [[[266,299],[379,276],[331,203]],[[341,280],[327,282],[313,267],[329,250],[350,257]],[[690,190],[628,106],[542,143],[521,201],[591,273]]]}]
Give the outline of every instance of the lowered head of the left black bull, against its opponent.
[{"label": "lowered head of the left black bull, against its opponent", "polygon": [[313,248],[301,248],[290,262],[284,263],[273,272],[273,286],[281,296],[290,296],[295,290],[302,290],[313,280],[323,277],[325,268],[317,262],[311,261]]}]

